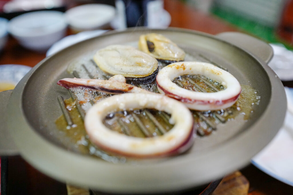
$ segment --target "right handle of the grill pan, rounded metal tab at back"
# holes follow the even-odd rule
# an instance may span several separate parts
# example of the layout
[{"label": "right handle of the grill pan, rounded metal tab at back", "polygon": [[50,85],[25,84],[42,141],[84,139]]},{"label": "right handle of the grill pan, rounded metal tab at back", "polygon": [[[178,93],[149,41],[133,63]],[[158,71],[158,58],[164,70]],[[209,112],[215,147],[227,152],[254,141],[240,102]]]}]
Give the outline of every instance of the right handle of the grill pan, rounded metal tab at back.
[{"label": "right handle of the grill pan, rounded metal tab at back", "polygon": [[264,41],[241,32],[222,32],[216,35],[218,38],[233,45],[239,46],[252,55],[268,63],[274,52],[272,47]]}]

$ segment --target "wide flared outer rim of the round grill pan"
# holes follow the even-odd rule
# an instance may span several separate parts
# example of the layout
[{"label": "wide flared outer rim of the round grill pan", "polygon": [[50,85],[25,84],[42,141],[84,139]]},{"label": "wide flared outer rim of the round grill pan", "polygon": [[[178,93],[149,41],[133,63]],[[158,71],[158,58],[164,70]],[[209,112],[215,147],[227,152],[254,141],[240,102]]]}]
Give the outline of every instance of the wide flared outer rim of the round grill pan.
[{"label": "wide flared outer rim of the round grill pan", "polygon": [[[217,37],[214,37],[212,35],[206,34],[206,33],[202,33],[202,32],[197,32],[197,31],[192,31],[192,30],[183,30],[183,29],[178,29],[178,28],[171,28],[171,29],[167,29],[167,30],[172,30],[172,31],[180,31],[180,32],[187,32],[187,33],[196,33],[196,34],[202,34],[205,36],[209,36],[212,37],[214,39],[217,39]],[[133,31],[133,29],[129,29],[128,32]],[[110,34],[112,33],[116,33],[116,32],[110,32]],[[119,32],[118,32],[119,33]],[[122,32],[123,33],[123,32]],[[107,36],[104,35],[104,36]],[[222,41],[217,39],[218,41]],[[230,43],[228,43],[230,44]],[[71,46],[69,48],[72,48],[74,46]],[[61,51],[62,52],[62,51]],[[247,51],[246,51],[247,52]],[[286,99],[285,97],[285,91],[284,89],[281,89],[280,86],[282,86],[282,83],[280,82],[280,80],[278,80],[278,78],[276,78],[275,73],[272,72],[272,70],[265,65],[265,63],[259,61],[260,65],[263,66],[263,68],[266,70],[269,78],[270,78],[270,82],[271,82],[271,86],[272,86],[272,97],[270,99],[270,102],[268,104],[268,108],[266,108],[266,110],[264,111],[263,115],[259,118],[258,121],[255,122],[255,124],[249,128],[247,131],[242,132],[240,135],[238,135],[235,139],[229,140],[227,143],[224,144],[224,147],[219,148],[219,149],[215,149],[214,151],[212,151],[211,153],[204,153],[204,154],[199,154],[198,156],[196,156],[193,159],[190,158],[173,158],[170,159],[168,161],[163,161],[163,162],[159,162],[156,164],[142,164],[142,165],[128,165],[128,164],[111,164],[108,162],[104,162],[104,161],[99,161],[97,163],[96,159],[93,159],[91,157],[88,156],[82,156],[80,154],[76,154],[76,153],[72,153],[72,152],[68,152],[64,149],[60,149],[58,146],[50,143],[48,140],[46,140],[44,137],[42,137],[40,134],[38,134],[37,132],[35,132],[35,130],[32,129],[32,127],[29,125],[29,122],[26,120],[26,118],[24,118],[24,113],[22,110],[22,99],[23,99],[23,91],[25,90],[25,84],[28,81],[28,79],[33,76],[34,71],[37,71],[38,67],[40,67],[43,63],[45,63],[47,60],[49,60],[50,58],[53,58],[55,55],[50,56],[48,58],[45,58],[43,61],[41,61],[38,65],[35,66],[35,68],[33,68],[26,76],[25,78],[23,78],[23,80],[21,82],[19,82],[19,84],[16,86],[15,90],[13,91],[11,98],[9,99],[9,103],[8,106],[10,109],[8,109],[8,113],[7,116],[13,116],[13,117],[7,117],[8,120],[8,127],[9,129],[11,129],[11,133],[13,134],[13,138],[16,141],[16,145],[18,146],[18,148],[20,149],[20,153],[21,155],[29,162],[31,163],[33,166],[35,166],[37,169],[41,170],[42,172],[44,172],[45,174],[54,177],[57,180],[60,181],[67,181],[70,182],[72,184],[78,185],[78,186],[88,186],[88,187],[92,187],[92,188],[96,188],[96,189],[101,189],[103,191],[112,191],[112,192],[124,192],[124,193],[147,193],[147,192],[162,192],[166,190],[166,187],[168,187],[168,191],[175,191],[175,190],[180,190],[180,189],[186,189],[186,188],[190,188],[190,187],[194,187],[197,185],[201,185],[204,183],[209,182],[212,179],[216,179],[219,177],[222,177],[222,175],[226,174],[227,172],[231,172],[232,170],[236,170],[240,167],[243,167],[244,165],[246,165],[246,163],[249,162],[250,158],[254,155],[252,153],[250,154],[246,154],[246,158],[245,160],[242,160],[241,162],[235,163],[234,165],[231,165],[229,168],[225,168],[223,167],[222,169],[218,169],[217,172],[213,172],[213,173],[208,173],[205,172],[206,169],[204,170],[196,170],[195,172],[193,172],[192,175],[190,175],[190,170],[188,171],[187,167],[190,168],[190,164],[198,161],[198,160],[202,160],[202,159],[207,159],[209,157],[214,157],[215,154],[217,154],[219,151],[226,151],[225,148],[233,148],[233,145],[235,145],[237,142],[241,143],[244,140],[247,140],[248,138],[251,139],[250,134],[251,134],[251,129],[255,128],[255,126],[261,125],[260,123],[262,123],[263,120],[265,120],[264,118],[266,118],[267,115],[270,114],[270,110],[272,109],[276,109],[279,108],[280,109],[280,118],[281,120],[278,120],[277,122],[274,122],[274,127],[280,128],[282,125],[282,122],[285,118],[285,110],[286,110],[286,101],[284,101]],[[278,96],[276,97],[276,94],[278,94]],[[276,101],[277,98],[281,99],[281,104],[280,106],[276,106]],[[276,101],[273,102],[272,100],[275,99]],[[16,103],[18,102],[18,103]],[[285,102],[285,103],[284,103]],[[13,118],[13,119],[12,119]],[[18,120],[18,124],[22,124],[22,128],[19,129],[19,125],[17,125],[15,123],[15,119]],[[14,122],[13,122],[14,121]],[[257,131],[256,129],[254,131]],[[277,130],[274,130],[273,132],[271,132],[269,135],[267,135],[266,138],[264,138],[263,140],[261,140],[261,146],[258,145],[256,148],[255,146],[251,146],[251,149],[254,149],[254,152],[258,152],[260,149],[262,149],[269,140],[272,139],[272,137],[277,133]],[[260,133],[258,133],[260,134]],[[258,137],[261,137],[261,135],[256,134]],[[26,143],[25,144],[24,140],[30,140],[30,143]],[[55,156],[55,162],[48,162],[48,160],[50,158],[46,157],[45,159],[40,159],[38,158],[38,155],[40,153],[43,153],[43,149],[41,149],[41,147],[35,148],[35,146],[38,146],[39,144],[43,145],[42,147],[45,147],[47,149],[46,152],[52,154],[53,156]],[[236,144],[237,145],[237,144]],[[36,151],[32,152],[30,149],[35,149]],[[220,150],[221,149],[221,150]],[[234,149],[235,150],[235,149]],[[234,153],[236,151],[233,151]],[[244,151],[242,151],[244,152]],[[188,155],[187,155],[188,156]],[[190,156],[190,155],[189,155]],[[217,155],[216,155],[217,156]],[[235,155],[237,156],[237,155]],[[239,156],[239,155],[238,155]],[[42,157],[44,158],[44,157]],[[96,164],[99,165],[100,169],[103,168],[103,174],[105,173],[105,170],[118,170],[121,172],[124,172],[125,175],[129,175],[131,177],[132,174],[137,174],[137,175],[145,175],[145,177],[142,179],[142,181],[147,182],[150,181],[150,179],[154,179],[155,175],[151,175],[152,174],[156,174],[156,178],[174,178],[174,181],[176,181],[176,183],[166,183],[166,180],[164,181],[164,184],[156,184],[154,182],[158,182],[158,181],[154,181],[151,182],[149,184],[137,184],[136,185],[129,185],[129,186],[125,186],[125,182],[122,182],[120,184],[117,184],[115,186],[115,184],[113,184],[113,181],[111,184],[104,184],[105,182],[102,182],[102,180],[100,180],[100,184],[98,184],[97,182],[93,182],[90,181],[91,179],[93,179],[93,175],[88,175],[88,179],[85,179],[84,177],[86,177],[86,173],[91,174],[91,172],[88,172],[88,170],[86,171],[86,173],[84,173],[80,178],[72,178],[72,176],[74,175],[78,175],[81,174],[80,170],[71,170],[72,172],[69,173],[69,175],[63,175],[64,171],[66,172],[66,170],[62,170],[62,169],[66,169],[66,163],[63,161],[63,159],[60,158],[67,158],[69,159],[69,161],[73,161],[71,165],[75,165],[77,166],[78,164],[88,164],[88,166],[90,167],[96,167]],[[73,159],[73,160],[72,160]],[[56,162],[58,161],[58,162]],[[53,164],[52,164],[53,163]],[[59,167],[58,164],[60,165]],[[46,166],[44,166],[46,165]],[[188,165],[188,166],[186,166]],[[177,178],[175,178],[176,174],[174,175],[174,173],[165,173],[165,176],[162,177],[161,174],[161,170],[163,169],[167,169],[167,170],[172,170],[172,168],[181,166],[182,170],[180,170],[181,172],[185,173],[182,175],[177,175]],[[62,168],[61,168],[62,167]],[[151,173],[150,173],[151,172]],[[95,172],[96,173],[96,172]],[[187,175],[189,174],[189,178],[187,179]],[[200,175],[201,177],[198,177],[197,175]],[[203,174],[203,175],[202,175]],[[115,173],[113,175],[113,177],[117,177],[117,174]],[[122,178],[125,178],[125,175],[123,176],[119,176]],[[180,181],[178,181],[178,177],[180,176]],[[181,177],[184,177],[181,178]],[[94,177],[97,179],[97,177]],[[106,179],[109,179],[110,177],[106,177]],[[102,178],[100,178],[102,179]],[[134,178],[132,178],[133,181]],[[189,180],[189,181],[188,181]],[[141,181],[141,182],[142,182]],[[115,180],[115,182],[118,182],[117,179]],[[114,183],[115,183],[114,182]],[[129,178],[127,179],[126,182],[129,182]],[[143,182],[142,182],[143,183]],[[127,183],[126,183],[127,184]],[[152,187],[150,187],[150,185]]]}]

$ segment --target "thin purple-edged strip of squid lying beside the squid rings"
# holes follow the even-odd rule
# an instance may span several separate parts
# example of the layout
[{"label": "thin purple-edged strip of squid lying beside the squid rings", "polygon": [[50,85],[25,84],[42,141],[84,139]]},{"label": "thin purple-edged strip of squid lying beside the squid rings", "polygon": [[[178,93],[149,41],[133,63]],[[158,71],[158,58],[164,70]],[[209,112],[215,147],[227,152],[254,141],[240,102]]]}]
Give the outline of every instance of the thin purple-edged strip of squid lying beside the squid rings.
[{"label": "thin purple-edged strip of squid lying beside the squid rings", "polygon": [[59,80],[57,84],[65,87],[66,89],[70,89],[72,87],[86,87],[108,94],[151,93],[145,89],[127,84],[122,75],[115,75],[109,80],[64,78]]}]

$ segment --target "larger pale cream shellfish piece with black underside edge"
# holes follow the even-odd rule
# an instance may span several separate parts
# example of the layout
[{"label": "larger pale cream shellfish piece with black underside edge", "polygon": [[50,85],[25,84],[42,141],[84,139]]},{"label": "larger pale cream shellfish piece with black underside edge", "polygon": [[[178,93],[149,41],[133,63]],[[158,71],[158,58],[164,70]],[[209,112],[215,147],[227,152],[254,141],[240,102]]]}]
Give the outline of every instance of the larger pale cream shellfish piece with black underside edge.
[{"label": "larger pale cream shellfish piece with black underside edge", "polygon": [[158,73],[158,61],[132,46],[107,46],[98,50],[93,60],[106,73],[142,84],[153,82]]}]

